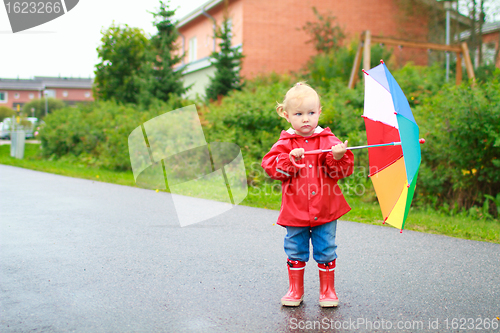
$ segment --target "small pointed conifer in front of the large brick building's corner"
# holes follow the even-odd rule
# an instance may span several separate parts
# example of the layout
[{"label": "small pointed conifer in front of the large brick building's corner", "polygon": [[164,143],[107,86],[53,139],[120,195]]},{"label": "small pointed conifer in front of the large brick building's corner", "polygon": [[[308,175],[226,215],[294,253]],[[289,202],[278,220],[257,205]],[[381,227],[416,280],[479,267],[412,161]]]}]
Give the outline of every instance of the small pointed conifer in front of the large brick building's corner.
[{"label": "small pointed conifer in front of the large brick building's corner", "polygon": [[210,83],[206,89],[206,98],[216,100],[219,96],[225,96],[232,90],[241,90],[240,67],[241,59],[244,55],[241,53],[241,47],[231,46],[231,27],[230,20],[226,12],[222,26],[217,27],[215,37],[219,38],[220,52],[212,52],[211,61],[215,66],[215,75],[210,78]]}]

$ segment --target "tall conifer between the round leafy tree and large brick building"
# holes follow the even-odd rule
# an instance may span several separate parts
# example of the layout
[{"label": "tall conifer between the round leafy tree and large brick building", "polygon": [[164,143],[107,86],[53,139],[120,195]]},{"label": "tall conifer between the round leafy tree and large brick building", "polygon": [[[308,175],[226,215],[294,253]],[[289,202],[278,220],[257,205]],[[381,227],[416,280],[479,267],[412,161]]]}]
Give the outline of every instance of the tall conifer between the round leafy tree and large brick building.
[{"label": "tall conifer between the round leafy tree and large brick building", "polygon": [[149,104],[154,98],[167,101],[170,94],[180,96],[186,91],[182,72],[173,68],[181,60],[181,55],[175,53],[179,36],[172,21],[175,10],[169,9],[169,1],[166,4],[160,1],[158,12],[152,14],[158,32],[150,40],[146,62],[142,67],[140,100],[143,104]]}]

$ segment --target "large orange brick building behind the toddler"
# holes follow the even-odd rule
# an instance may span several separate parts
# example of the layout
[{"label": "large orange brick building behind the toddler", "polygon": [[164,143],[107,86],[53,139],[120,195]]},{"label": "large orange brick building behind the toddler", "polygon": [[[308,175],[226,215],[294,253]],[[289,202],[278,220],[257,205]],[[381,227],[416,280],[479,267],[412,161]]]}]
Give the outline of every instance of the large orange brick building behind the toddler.
[{"label": "large orange brick building behind the toddler", "polygon": [[[415,0],[441,6],[434,0]],[[428,17],[409,12],[400,0],[229,0],[228,10],[233,46],[242,45],[245,58],[241,75],[252,78],[259,73],[297,71],[315,54],[310,36],[301,28],[320,14],[331,13],[348,39],[370,30],[373,35],[428,40]],[[210,0],[177,24],[178,40],[184,50],[182,67],[185,84],[193,84],[189,94],[204,94],[208,76],[214,72],[209,56],[217,50],[215,24],[223,19],[224,1]],[[444,11],[443,11],[444,13]],[[444,17],[444,14],[443,14]],[[405,50],[405,57],[417,64],[427,63],[425,50]]]}]

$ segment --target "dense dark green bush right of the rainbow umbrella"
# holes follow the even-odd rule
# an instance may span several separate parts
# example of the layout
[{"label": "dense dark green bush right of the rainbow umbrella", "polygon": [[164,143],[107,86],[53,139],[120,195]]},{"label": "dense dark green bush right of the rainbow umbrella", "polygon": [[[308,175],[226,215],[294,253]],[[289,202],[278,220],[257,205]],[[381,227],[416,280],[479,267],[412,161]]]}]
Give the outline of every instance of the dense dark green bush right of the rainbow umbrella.
[{"label": "dense dark green bush right of the rainbow umbrella", "polygon": [[[500,83],[446,86],[416,108],[422,147],[421,200],[453,211],[500,193]],[[494,201],[491,213],[497,216]],[[488,204],[489,205],[489,204]]]}]

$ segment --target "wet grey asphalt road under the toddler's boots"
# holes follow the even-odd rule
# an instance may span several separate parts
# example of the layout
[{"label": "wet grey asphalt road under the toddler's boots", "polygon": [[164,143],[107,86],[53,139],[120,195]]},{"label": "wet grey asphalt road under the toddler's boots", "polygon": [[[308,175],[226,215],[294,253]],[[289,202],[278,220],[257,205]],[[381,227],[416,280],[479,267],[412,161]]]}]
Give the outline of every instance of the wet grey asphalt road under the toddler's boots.
[{"label": "wet grey asphalt road under the toddler's boots", "polygon": [[303,305],[283,308],[277,215],[181,228],[169,194],[0,165],[0,331],[446,332],[500,316],[500,245],[344,221],[339,307],[318,306],[310,262]]}]

